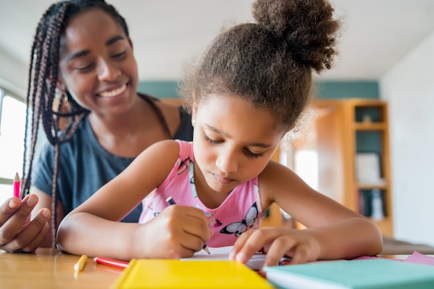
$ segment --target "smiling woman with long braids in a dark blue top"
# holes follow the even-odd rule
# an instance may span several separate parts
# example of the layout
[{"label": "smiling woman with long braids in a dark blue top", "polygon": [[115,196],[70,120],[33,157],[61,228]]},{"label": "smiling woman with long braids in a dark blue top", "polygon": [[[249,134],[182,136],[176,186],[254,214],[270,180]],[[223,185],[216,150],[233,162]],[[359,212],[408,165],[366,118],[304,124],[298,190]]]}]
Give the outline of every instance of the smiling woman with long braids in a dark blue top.
[{"label": "smiling woman with long braids in a dark blue top", "polygon": [[[37,238],[46,235],[42,246],[47,247],[54,245],[62,218],[141,151],[168,138],[191,140],[193,129],[190,115],[179,107],[137,93],[139,77],[128,26],[103,0],[51,5],[37,26],[31,55],[27,120],[32,123],[26,126],[31,129],[26,131],[22,191],[39,198],[32,219],[42,223]],[[33,162],[40,124],[49,142]],[[51,209],[48,225],[44,208]],[[140,212],[141,206],[123,221],[137,222]],[[19,224],[1,230],[15,232]],[[46,226],[51,234],[44,233]],[[35,250],[31,240],[21,245],[11,240],[0,243],[0,248]]]}]

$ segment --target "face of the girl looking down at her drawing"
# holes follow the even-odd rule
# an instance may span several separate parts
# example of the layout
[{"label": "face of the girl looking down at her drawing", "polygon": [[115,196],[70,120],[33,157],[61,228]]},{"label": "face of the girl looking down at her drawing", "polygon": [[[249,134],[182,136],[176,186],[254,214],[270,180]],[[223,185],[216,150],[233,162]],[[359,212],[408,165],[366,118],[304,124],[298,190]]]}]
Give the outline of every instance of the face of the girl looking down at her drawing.
[{"label": "face of the girl looking down at her drawing", "polygon": [[285,132],[270,111],[234,95],[195,104],[193,122],[195,177],[224,194],[263,171]]}]

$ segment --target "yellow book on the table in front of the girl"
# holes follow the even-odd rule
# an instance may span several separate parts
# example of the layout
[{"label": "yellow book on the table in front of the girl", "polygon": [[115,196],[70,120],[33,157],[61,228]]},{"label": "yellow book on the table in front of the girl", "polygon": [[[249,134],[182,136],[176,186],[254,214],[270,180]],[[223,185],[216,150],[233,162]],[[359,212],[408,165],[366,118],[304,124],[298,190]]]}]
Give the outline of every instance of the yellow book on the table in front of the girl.
[{"label": "yellow book on the table in front of the girl", "polygon": [[134,288],[274,288],[237,261],[132,259],[112,289]]}]

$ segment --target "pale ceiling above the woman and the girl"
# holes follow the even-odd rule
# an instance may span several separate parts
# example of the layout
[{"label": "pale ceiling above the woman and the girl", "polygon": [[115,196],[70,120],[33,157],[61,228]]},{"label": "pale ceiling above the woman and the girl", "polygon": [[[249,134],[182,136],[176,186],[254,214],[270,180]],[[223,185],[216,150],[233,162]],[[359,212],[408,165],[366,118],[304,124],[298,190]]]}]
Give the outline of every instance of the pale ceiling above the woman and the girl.
[{"label": "pale ceiling above the woman and the girl", "polygon": [[[252,0],[107,0],[130,27],[139,77],[180,79],[222,25],[251,21]],[[434,31],[434,0],[332,0],[344,27],[320,80],[378,80]],[[0,53],[27,65],[37,21],[53,0],[0,0]],[[0,64],[1,65],[1,64]]]}]

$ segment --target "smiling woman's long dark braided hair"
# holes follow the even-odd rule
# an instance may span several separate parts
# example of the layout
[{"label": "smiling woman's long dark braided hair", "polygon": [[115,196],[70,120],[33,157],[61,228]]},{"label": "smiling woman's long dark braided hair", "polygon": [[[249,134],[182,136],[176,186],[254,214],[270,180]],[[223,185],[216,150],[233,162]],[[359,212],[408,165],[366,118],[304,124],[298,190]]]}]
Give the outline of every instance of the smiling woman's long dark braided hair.
[{"label": "smiling woman's long dark braided hair", "polygon": [[[57,228],[57,190],[58,174],[60,171],[60,145],[67,142],[78,129],[81,120],[89,113],[78,105],[72,97],[64,100],[58,97],[55,102],[56,85],[58,81],[58,69],[60,59],[60,38],[66,28],[69,19],[79,12],[90,8],[101,8],[112,16],[123,28],[125,35],[129,37],[128,26],[125,19],[119,15],[116,9],[105,3],[104,0],[66,0],[53,3],[42,15],[37,25],[33,45],[31,48],[31,63],[28,70],[26,132],[24,136],[24,162],[23,182],[21,192],[24,197],[31,187],[31,175],[37,136],[40,126],[44,129],[47,140],[54,147],[53,163],[53,188],[51,191],[51,227],[53,243],[55,245],[55,232]],[[68,94],[68,92],[67,92]],[[53,107],[55,104],[56,107]],[[62,111],[63,106],[69,107],[69,112]],[[69,125],[64,129],[59,125],[61,120],[68,119]],[[62,130],[63,129],[63,130]],[[30,130],[30,131],[29,131]],[[29,140],[31,142],[29,143]]]}]

